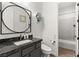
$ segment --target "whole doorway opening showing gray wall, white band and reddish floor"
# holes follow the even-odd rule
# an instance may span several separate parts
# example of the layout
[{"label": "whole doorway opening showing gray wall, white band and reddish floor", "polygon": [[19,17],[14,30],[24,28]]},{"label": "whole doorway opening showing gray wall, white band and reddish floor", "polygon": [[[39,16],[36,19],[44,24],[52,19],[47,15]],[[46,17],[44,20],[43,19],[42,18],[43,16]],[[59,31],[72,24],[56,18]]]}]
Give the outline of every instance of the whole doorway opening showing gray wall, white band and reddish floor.
[{"label": "whole doorway opening showing gray wall, white band and reddish floor", "polygon": [[76,2],[61,2],[58,5],[59,56],[75,57],[76,40]]}]

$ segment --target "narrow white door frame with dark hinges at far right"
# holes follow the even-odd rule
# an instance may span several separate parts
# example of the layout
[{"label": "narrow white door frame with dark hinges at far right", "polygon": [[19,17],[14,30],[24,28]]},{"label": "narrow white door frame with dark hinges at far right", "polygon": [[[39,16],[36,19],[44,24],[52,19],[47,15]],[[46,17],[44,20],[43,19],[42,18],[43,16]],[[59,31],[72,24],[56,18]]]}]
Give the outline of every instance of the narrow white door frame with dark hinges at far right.
[{"label": "narrow white door frame with dark hinges at far right", "polygon": [[79,24],[79,22],[78,22],[78,4],[79,3],[77,3],[77,2],[75,2],[75,25],[76,25],[76,27],[75,27],[75,34],[74,34],[74,37],[75,37],[75,56],[79,56],[79,54],[78,54],[78,24]]}]

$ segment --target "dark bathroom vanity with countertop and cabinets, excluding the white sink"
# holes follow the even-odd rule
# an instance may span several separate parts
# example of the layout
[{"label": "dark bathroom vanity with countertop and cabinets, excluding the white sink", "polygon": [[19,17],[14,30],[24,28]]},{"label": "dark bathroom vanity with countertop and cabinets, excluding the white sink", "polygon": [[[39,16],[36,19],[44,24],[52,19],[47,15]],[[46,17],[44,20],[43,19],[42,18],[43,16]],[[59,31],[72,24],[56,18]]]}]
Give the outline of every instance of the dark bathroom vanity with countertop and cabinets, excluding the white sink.
[{"label": "dark bathroom vanity with countertop and cabinets, excluding the white sink", "polygon": [[41,41],[42,39],[33,38],[32,42],[22,45],[15,45],[13,42],[16,38],[6,39],[0,44],[0,57],[40,57],[41,56]]}]

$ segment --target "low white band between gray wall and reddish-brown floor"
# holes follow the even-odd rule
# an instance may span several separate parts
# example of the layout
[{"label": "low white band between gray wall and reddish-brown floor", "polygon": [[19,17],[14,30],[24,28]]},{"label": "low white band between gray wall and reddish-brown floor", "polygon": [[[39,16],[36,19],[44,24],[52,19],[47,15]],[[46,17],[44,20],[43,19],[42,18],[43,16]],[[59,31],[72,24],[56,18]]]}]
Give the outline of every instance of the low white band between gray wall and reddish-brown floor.
[{"label": "low white band between gray wall and reddish-brown floor", "polygon": [[76,42],[70,40],[59,39],[59,47],[75,50]]}]

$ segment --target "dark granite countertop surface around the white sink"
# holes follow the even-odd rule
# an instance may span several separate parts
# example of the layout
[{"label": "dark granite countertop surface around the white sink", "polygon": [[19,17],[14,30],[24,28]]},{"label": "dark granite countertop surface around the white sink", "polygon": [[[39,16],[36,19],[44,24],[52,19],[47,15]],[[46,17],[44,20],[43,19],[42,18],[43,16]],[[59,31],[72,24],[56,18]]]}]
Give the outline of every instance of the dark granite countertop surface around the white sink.
[{"label": "dark granite countertop surface around the white sink", "polygon": [[22,44],[22,45],[19,45],[19,46],[15,45],[13,43],[14,41],[8,41],[8,42],[0,43],[0,54],[10,52],[14,49],[19,49],[20,47],[22,47],[24,45],[29,45],[29,44],[35,43],[37,41],[42,41],[42,39],[33,38],[32,42],[25,43],[25,44]]}]

